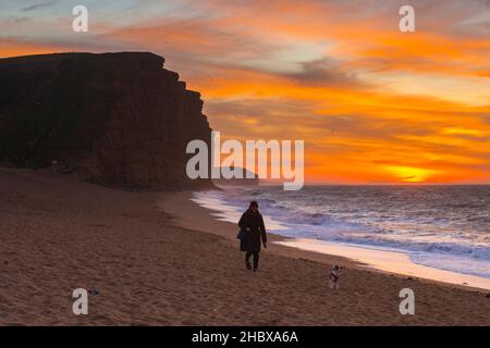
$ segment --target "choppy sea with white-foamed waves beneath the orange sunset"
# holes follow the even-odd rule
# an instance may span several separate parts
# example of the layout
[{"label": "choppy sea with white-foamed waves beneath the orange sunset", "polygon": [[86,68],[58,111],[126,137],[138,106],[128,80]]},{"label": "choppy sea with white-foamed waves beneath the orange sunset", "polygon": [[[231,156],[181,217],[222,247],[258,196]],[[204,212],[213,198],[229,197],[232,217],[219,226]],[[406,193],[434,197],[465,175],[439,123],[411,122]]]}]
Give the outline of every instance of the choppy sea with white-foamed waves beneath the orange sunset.
[{"label": "choppy sea with white-foamed waves beneath the orange sunset", "polygon": [[194,192],[236,223],[250,200],[268,232],[406,253],[412,262],[490,278],[490,186],[224,187]]}]

